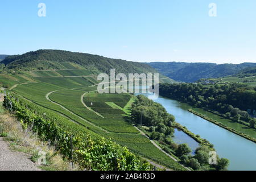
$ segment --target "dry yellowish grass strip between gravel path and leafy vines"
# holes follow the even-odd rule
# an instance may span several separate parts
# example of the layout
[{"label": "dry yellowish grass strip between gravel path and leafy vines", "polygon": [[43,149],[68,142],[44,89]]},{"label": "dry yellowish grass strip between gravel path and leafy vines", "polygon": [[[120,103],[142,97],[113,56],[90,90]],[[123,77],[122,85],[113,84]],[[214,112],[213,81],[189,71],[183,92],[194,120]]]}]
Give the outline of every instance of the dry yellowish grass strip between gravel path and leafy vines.
[{"label": "dry yellowish grass strip between gravel path and leafy vines", "polygon": [[72,168],[69,161],[64,159],[55,147],[48,142],[42,142],[35,133],[32,133],[31,128],[24,130],[21,123],[7,112],[0,115],[0,137],[10,142],[11,150],[28,154],[33,162],[38,162],[41,157],[40,151],[46,152],[46,164],[39,168],[47,171],[79,170],[78,166]]}]

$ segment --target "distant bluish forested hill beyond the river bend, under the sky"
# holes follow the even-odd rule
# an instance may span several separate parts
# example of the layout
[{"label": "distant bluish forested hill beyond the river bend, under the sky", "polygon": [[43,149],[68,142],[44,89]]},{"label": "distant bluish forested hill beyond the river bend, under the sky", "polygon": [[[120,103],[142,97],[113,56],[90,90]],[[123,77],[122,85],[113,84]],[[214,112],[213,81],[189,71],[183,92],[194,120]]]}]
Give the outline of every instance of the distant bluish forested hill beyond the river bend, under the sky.
[{"label": "distant bluish forested hill beyond the river bend, under the sky", "polygon": [[165,76],[176,81],[195,82],[201,78],[217,78],[234,75],[242,69],[256,67],[256,63],[214,64],[169,62],[148,63]]}]

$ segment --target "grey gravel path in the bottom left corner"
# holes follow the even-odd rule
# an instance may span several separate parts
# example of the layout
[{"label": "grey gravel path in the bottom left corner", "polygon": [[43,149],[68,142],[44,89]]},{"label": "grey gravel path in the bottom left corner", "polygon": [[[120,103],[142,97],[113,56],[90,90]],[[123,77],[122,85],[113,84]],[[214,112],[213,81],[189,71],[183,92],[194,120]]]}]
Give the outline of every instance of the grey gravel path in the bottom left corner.
[{"label": "grey gravel path in the bottom left corner", "polygon": [[22,152],[9,149],[9,143],[0,137],[0,171],[40,171]]}]

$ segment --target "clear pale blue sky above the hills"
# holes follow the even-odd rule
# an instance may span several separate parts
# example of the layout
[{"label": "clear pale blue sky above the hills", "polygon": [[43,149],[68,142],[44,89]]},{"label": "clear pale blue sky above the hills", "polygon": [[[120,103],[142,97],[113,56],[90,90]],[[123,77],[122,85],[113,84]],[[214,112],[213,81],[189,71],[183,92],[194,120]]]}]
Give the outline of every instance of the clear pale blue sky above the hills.
[{"label": "clear pale blue sky above the hills", "polygon": [[[46,17],[38,16],[41,2]],[[256,62],[255,0],[1,0],[0,24],[0,54],[64,49],[130,61]]]}]

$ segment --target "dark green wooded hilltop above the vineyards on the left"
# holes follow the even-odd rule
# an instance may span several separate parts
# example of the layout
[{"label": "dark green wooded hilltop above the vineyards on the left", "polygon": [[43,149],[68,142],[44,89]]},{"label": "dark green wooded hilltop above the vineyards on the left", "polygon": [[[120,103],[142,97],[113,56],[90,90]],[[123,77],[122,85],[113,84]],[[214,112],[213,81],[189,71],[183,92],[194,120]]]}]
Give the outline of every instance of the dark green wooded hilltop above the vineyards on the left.
[{"label": "dark green wooded hilltop above the vineyards on the left", "polygon": [[67,69],[63,67],[63,63],[75,63],[82,68],[105,73],[109,73],[111,68],[115,68],[116,73],[156,73],[154,68],[145,63],[52,49],[40,49],[23,55],[9,56],[2,63],[6,65],[5,69],[13,71]]}]

